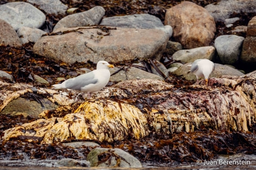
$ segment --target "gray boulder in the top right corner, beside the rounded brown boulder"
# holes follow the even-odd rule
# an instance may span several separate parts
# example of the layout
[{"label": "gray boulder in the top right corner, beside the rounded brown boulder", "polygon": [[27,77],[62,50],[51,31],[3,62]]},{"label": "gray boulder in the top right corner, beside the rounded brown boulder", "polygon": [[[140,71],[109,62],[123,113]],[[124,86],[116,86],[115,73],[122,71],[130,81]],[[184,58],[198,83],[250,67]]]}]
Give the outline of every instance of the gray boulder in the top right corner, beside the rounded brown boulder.
[{"label": "gray boulder in the top right corner, beside the rounded brown boulder", "polygon": [[215,22],[225,22],[234,13],[256,12],[256,1],[254,0],[222,0],[204,7],[214,17]]}]

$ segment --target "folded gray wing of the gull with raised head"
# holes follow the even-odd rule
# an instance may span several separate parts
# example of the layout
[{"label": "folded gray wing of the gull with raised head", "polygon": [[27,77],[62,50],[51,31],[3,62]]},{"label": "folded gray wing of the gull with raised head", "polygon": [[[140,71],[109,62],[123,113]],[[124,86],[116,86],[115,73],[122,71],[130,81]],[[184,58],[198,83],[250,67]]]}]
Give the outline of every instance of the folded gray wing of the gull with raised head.
[{"label": "folded gray wing of the gull with raised head", "polygon": [[66,89],[81,91],[81,87],[87,86],[88,84],[96,84],[97,81],[98,79],[95,78],[95,74],[93,72],[89,72],[66,80],[65,87]]}]

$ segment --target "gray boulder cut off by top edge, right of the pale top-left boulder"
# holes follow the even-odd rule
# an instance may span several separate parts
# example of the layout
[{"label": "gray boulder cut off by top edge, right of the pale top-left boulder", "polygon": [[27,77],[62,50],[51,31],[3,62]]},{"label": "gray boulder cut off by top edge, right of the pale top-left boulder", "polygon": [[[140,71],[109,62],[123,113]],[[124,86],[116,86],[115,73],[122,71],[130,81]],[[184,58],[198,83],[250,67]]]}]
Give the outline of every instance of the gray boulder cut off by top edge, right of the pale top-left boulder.
[{"label": "gray boulder cut off by top edge, right of the pale top-left boulder", "polygon": [[40,10],[52,15],[65,15],[68,9],[59,0],[27,0],[27,2],[36,5]]}]

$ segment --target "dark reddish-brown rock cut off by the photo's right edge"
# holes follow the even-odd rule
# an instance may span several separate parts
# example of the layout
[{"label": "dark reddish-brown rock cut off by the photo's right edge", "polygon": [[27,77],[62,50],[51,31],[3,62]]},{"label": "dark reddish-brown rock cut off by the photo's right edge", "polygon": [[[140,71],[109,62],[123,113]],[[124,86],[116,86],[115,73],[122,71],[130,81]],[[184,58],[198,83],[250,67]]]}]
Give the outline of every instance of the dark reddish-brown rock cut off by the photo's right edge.
[{"label": "dark reddish-brown rock cut off by the photo's right edge", "polygon": [[246,38],[243,41],[241,60],[245,64],[256,64],[256,16],[248,23]]}]

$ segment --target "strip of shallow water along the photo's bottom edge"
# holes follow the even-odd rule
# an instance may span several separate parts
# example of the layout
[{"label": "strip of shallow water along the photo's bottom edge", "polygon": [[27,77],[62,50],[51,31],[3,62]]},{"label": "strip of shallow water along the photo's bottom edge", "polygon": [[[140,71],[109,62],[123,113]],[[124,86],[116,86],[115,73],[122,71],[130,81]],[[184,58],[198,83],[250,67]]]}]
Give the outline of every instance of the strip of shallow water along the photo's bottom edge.
[{"label": "strip of shallow water along the photo's bottom edge", "polygon": [[143,163],[143,168],[103,168],[103,167],[63,167],[58,165],[58,160],[0,160],[0,169],[36,169],[36,170],[51,170],[51,169],[256,169],[256,155],[235,154],[235,155],[220,155],[217,159],[198,160],[197,163],[184,164],[157,164]]}]

